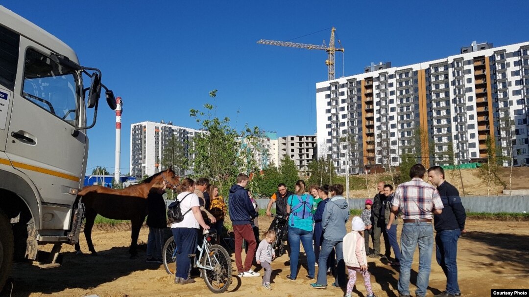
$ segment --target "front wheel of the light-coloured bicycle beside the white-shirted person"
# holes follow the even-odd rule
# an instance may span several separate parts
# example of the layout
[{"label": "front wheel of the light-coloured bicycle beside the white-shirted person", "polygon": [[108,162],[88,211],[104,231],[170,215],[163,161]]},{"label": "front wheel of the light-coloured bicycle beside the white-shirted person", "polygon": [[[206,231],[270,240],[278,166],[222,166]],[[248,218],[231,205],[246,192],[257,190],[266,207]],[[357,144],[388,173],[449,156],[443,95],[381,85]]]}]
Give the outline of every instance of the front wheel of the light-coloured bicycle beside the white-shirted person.
[{"label": "front wheel of the light-coloured bicycle beside the white-shirted person", "polygon": [[[222,293],[228,289],[232,281],[231,258],[226,249],[218,244],[208,248],[207,255],[202,257],[204,267],[212,267],[212,270],[202,270],[207,288],[213,293]],[[210,261],[211,260],[211,261]]]}]

